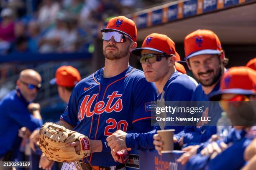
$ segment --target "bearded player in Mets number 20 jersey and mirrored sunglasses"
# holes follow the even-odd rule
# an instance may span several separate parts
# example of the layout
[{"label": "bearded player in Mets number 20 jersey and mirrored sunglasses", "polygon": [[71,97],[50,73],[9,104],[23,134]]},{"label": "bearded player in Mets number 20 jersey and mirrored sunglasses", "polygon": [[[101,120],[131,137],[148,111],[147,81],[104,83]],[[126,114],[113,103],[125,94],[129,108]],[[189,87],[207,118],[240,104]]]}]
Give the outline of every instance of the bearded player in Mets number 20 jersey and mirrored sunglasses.
[{"label": "bearded player in Mets number 20 jersey and mirrored sunglasses", "polygon": [[[145,133],[151,130],[151,101],[156,87],[147,82],[142,71],[128,64],[136,48],[135,23],[119,16],[102,29],[105,67],[81,80],[72,92],[60,125],[87,135],[94,150],[82,166],[95,169],[123,169],[110,153],[106,138],[116,130]],[[94,145],[94,146],[93,146]],[[80,148],[78,142],[67,146]],[[72,169],[72,167],[70,167]],[[62,166],[62,169],[67,167]]]}]

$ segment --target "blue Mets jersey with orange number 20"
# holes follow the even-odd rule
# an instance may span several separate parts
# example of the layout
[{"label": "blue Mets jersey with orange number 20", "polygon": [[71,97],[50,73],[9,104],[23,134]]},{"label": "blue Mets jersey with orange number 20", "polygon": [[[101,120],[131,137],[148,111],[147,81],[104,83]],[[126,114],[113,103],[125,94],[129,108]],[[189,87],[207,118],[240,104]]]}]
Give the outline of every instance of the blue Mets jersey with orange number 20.
[{"label": "blue Mets jersey with orange number 20", "polygon": [[88,157],[92,165],[118,165],[110,154],[106,138],[116,130],[150,131],[151,101],[156,101],[156,93],[154,84],[147,82],[140,70],[129,66],[119,75],[104,78],[102,68],[74,87],[61,119],[91,140],[102,141],[102,152]]}]

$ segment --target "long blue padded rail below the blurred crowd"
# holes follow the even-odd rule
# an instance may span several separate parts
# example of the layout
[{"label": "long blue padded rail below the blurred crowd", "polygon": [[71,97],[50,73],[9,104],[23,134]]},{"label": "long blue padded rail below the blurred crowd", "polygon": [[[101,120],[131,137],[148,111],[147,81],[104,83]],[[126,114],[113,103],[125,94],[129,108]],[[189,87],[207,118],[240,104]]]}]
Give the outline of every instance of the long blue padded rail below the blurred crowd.
[{"label": "long blue padded rail below the blurred crowd", "polygon": [[0,55],[1,62],[42,62],[42,61],[58,61],[58,60],[83,60],[91,59],[92,54],[89,52],[77,53],[24,53],[24,54],[8,54]]}]

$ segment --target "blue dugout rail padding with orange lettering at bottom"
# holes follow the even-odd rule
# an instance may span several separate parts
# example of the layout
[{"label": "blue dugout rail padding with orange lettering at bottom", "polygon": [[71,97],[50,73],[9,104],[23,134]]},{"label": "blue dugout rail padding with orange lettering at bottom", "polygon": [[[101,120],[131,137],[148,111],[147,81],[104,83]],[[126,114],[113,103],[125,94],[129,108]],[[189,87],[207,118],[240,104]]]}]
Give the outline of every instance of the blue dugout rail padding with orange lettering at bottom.
[{"label": "blue dugout rail padding with orange lettering at bottom", "polygon": [[185,170],[185,165],[176,162],[183,153],[184,151],[174,150],[160,156],[156,150],[132,150],[125,165],[126,170]]}]

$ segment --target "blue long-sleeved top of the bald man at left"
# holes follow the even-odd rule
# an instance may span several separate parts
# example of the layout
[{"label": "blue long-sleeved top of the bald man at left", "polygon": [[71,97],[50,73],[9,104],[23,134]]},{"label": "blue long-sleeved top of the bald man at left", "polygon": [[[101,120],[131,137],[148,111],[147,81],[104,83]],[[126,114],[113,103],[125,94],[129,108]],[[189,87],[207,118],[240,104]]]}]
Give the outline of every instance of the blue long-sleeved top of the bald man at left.
[{"label": "blue long-sleeved top of the bald man at left", "polygon": [[42,120],[34,118],[28,112],[28,104],[19,90],[11,91],[0,101],[0,158],[9,150],[13,150],[13,158],[15,158],[20,146],[18,142],[20,128],[26,127],[33,132],[41,127]]}]

